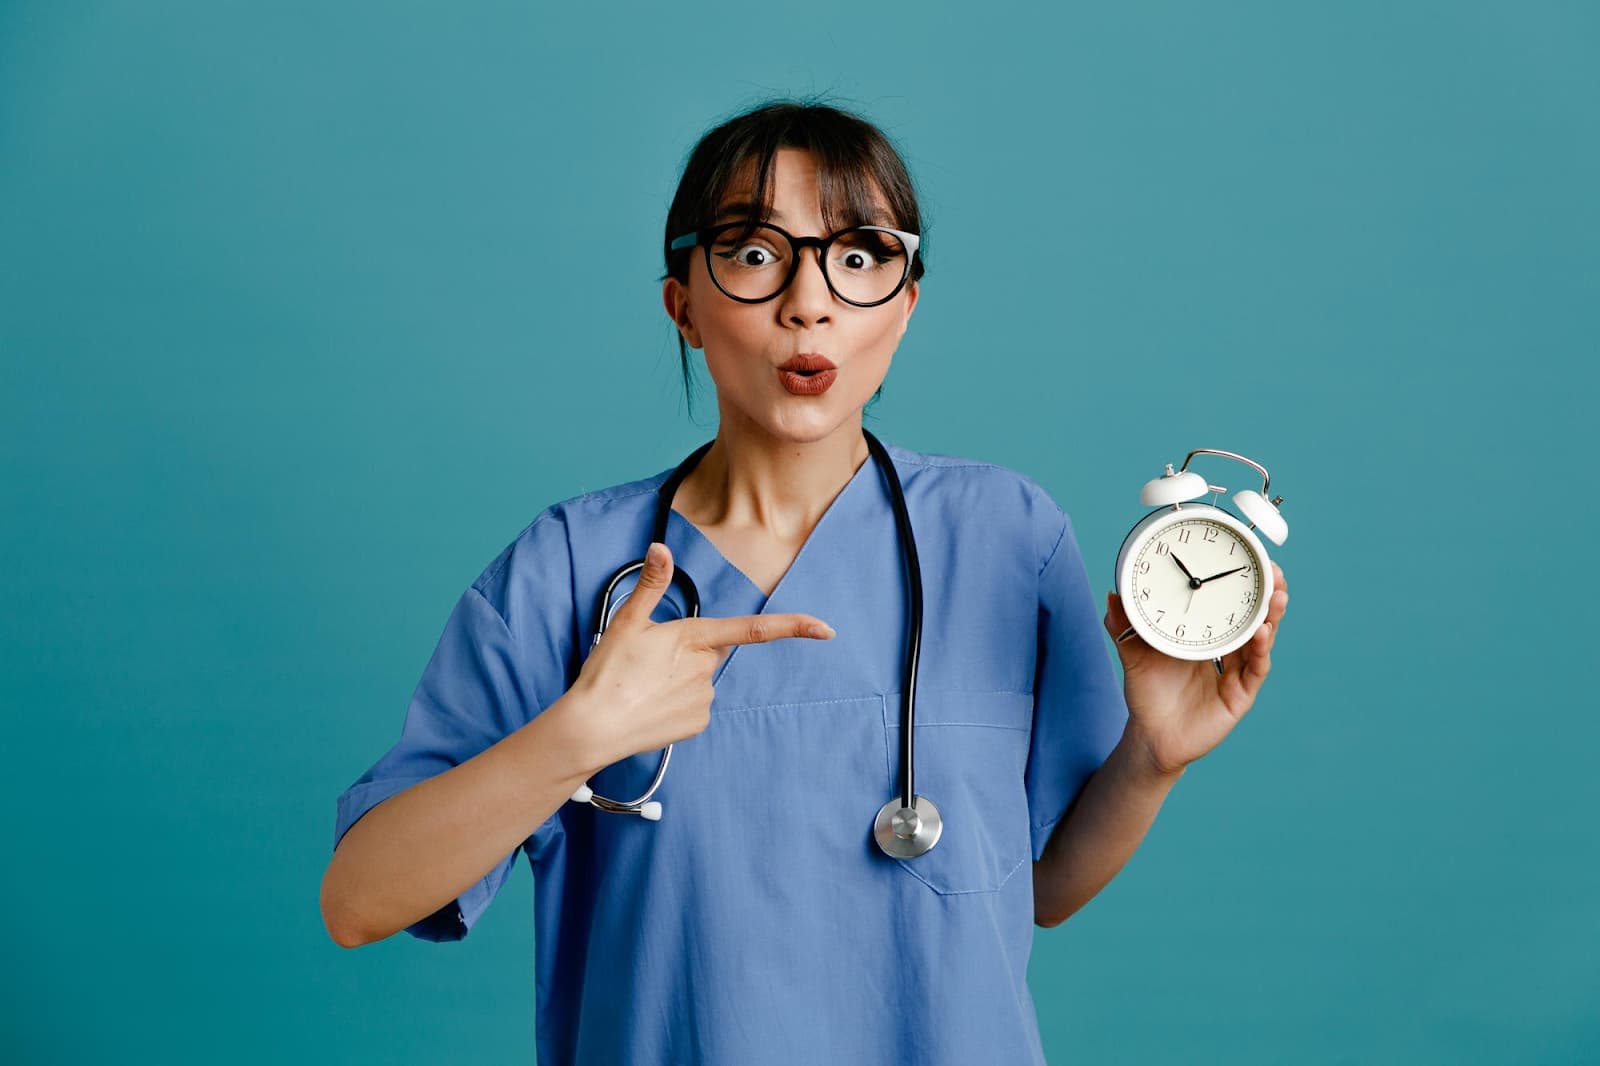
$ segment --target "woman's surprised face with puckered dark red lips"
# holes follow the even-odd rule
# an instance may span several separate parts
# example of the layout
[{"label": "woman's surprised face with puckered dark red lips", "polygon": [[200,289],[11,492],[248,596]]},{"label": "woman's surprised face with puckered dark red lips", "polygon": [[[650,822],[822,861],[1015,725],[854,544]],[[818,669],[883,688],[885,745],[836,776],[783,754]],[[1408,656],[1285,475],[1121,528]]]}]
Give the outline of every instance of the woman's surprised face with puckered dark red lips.
[{"label": "woman's surprised face with puckered dark red lips", "polygon": [[[827,235],[810,152],[779,149],[771,184],[773,210],[766,221],[795,237]],[[725,203],[749,202],[749,192],[734,189]],[[893,224],[882,198],[878,205],[882,221]],[[717,221],[733,218],[739,216]],[[806,248],[789,288],[763,304],[742,304],[717,288],[706,274],[704,253],[696,248],[688,283],[669,277],[662,301],[690,347],[706,352],[723,426],[738,424],[802,443],[822,440],[840,427],[859,427],[861,408],[888,375],[910,322],[917,283],[907,282],[894,299],[877,307],[856,307],[834,296],[822,280],[816,250]],[[803,352],[824,355],[838,368],[834,384],[819,395],[789,392],[778,373],[778,367]]]}]

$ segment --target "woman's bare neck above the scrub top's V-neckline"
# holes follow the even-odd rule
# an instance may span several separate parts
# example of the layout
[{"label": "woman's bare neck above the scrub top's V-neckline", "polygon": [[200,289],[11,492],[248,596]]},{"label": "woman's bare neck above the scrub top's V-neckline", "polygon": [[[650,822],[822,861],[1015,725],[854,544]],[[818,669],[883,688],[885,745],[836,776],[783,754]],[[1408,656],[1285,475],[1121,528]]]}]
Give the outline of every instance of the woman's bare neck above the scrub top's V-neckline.
[{"label": "woman's bare neck above the scrub top's V-neckline", "polygon": [[803,443],[723,419],[710,450],[683,479],[675,509],[699,527],[762,530],[798,543],[869,458],[859,416]]}]

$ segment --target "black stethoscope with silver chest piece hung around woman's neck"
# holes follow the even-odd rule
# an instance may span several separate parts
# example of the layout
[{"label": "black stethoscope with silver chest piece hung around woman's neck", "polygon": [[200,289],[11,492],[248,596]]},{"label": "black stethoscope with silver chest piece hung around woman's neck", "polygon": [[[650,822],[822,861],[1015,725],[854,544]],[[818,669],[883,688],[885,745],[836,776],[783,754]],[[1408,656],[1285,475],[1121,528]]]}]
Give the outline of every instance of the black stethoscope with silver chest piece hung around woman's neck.
[{"label": "black stethoscope with silver chest piece hung around woman's neck", "polygon": [[[866,429],[861,435],[867,439],[867,451],[877,461],[878,469],[883,471],[883,477],[890,487],[890,498],[894,503],[894,527],[899,531],[901,554],[906,559],[906,591],[910,602],[910,624],[906,637],[906,671],[904,683],[901,685],[901,789],[898,795],[890,797],[883,807],[878,808],[877,818],[872,821],[872,837],[878,842],[886,855],[894,858],[917,858],[928,852],[934,844],[939,842],[939,834],[944,831],[944,820],[939,816],[939,808],[933,805],[926,795],[917,795],[914,789],[915,783],[915,755],[914,755],[914,739],[917,735],[917,656],[922,651],[922,565],[917,562],[917,539],[910,531],[910,515],[906,511],[906,493],[901,490],[899,474],[894,472],[894,463],[890,461],[890,453],[883,448],[877,437],[874,437]],[[656,523],[651,533],[651,541],[667,539],[667,515],[672,512],[672,496],[678,491],[678,485],[688,477],[690,471],[701,461],[701,458],[710,451],[715,440],[709,440],[694,451],[688,455],[683,463],[672,471],[670,477],[661,483],[659,498],[656,503]],[[621,607],[621,600],[613,605],[613,597],[616,595],[618,586],[622,584],[632,575],[637,575],[645,568],[643,559],[635,559],[630,563],[618,567],[611,579],[606,581],[605,589],[600,594],[600,610],[598,624],[595,627],[595,637],[590,647],[600,643],[600,637],[605,635],[606,626],[611,623],[611,615]],[[683,592],[685,608],[690,618],[699,616],[699,589],[694,587],[693,578],[682,567],[674,565],[672,583],[678,586]],[[626,597],[624,597],[626,599]],[[661,752],[661,765],[656,767],[656,776],[651,779],[650,787],[638,799],[621,802],[598,795],[587,783],[582,784],[576,792],[573,792],[573,800],[578,804],[592,804],[600,810],[611,812],[614,815],[638,815],[650,821],[661,820],[661,802],[650,799],[661,787],[661,779],[667,775],[667,763],[672,760],[672,744]]]}]

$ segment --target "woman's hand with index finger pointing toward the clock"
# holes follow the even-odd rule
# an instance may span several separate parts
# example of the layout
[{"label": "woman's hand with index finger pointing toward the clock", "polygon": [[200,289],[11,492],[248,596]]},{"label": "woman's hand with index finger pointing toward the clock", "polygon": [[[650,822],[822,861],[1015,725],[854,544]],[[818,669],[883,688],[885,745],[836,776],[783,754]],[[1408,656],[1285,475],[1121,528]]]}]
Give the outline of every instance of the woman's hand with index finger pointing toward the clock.
[{"label": "woman's hand with index finger pointing toward the clock", "polygon": [[813,615],[650,621],[670,583],[672,552],[653,543],[638,584],[616,608],[573,683],[582,695],[581,728],[594,741],[602,767],[704,731],[710,725],[712,674],[734,645],[834,637],[834,629]]}]

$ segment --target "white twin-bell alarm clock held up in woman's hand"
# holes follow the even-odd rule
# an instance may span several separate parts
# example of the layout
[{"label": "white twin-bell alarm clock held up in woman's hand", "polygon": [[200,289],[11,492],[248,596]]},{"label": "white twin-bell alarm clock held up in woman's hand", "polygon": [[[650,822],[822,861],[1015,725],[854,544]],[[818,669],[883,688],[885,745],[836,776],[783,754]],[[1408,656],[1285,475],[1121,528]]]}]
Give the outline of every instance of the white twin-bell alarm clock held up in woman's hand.
[{"label": "white twin-bell alarm clock held up in woman's hand", "polygon": [[[1234,506],[1250,522],[1213,504],[1190,503],[1208,493],[1226,493],[1189,469],[1197,455],[1219,455],[1261,472],[1261,491],[1234,493]],[[1218,672],[1222,656],[1256,635],[1272,602],[1272,560],[1256,536],[1274,544],[1288,539],[1290,527],[1278,514],[1283,496],[1267,499],[1270,479],[1254,459],[1216,448],[1195,448],[1182,467],[1144,485],[1139,503],[1155,507],[1134,525],[1117,552],[1117,594],[1130,629],[1157,651],[1178,659],[1211,659]]]}]

